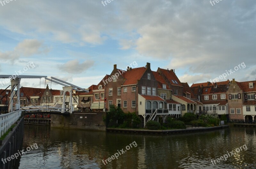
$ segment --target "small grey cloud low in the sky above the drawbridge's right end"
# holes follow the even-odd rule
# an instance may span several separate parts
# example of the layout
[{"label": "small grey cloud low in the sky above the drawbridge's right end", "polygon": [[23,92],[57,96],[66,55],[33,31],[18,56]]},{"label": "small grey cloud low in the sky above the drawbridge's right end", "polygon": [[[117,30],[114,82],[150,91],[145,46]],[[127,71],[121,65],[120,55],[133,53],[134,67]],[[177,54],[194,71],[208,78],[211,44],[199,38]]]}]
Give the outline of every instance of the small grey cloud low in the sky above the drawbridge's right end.
[{"label": "small grey cloud low in the sky above the drawbridge's right end", "polygon": [[79,61],[75,59],[75,60],[70,60],[65,64],[58,65],[58,68],[63,72],[79,74],[88,70],[93,65],[94,65],[94,61],[92,60],[87,60],[82,63],[79,63]]}]

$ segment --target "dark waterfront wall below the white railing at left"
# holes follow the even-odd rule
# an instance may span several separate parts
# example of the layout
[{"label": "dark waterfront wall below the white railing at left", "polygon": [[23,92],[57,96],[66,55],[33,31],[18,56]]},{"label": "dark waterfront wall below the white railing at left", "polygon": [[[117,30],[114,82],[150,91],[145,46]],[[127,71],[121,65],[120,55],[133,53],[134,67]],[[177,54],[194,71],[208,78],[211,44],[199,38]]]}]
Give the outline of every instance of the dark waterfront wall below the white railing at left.
[{"label": "dark waterfront wall below the white railing at left", "polygon": [[[20,150],[20,147],[23,142],[24,136],[24,119],[20,118],[16,123],[16,126],[12,128],[5,138],[2,140],[2,145],[0,145],[0,160],[1,165],[0,169],[12,169],[13,166],[17,163],[16,158],[11,159],[10,161],[6,160],[6,163],[2,161],[2,159],[12,157],[15,153]],[[19,157],[20,158],[20,157]],[[18,158],[18,159],[19,159]]]}]

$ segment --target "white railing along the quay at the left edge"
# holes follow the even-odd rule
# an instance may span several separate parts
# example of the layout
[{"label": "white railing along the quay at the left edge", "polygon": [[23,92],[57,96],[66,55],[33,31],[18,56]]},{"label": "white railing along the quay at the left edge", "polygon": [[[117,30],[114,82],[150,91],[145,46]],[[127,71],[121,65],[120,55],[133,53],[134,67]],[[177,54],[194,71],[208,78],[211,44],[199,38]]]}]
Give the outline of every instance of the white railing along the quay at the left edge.
[{"label": "white railing along the quay at the left edge", "polygon": [[20,118],[22,110],[0,115],[0,137]]}]

